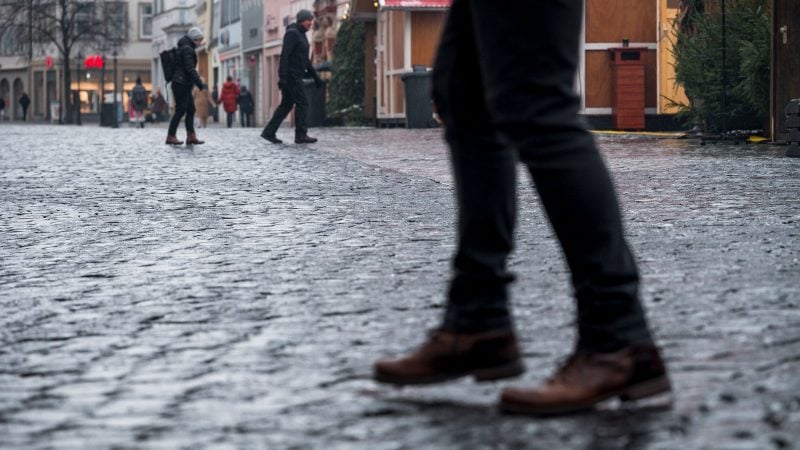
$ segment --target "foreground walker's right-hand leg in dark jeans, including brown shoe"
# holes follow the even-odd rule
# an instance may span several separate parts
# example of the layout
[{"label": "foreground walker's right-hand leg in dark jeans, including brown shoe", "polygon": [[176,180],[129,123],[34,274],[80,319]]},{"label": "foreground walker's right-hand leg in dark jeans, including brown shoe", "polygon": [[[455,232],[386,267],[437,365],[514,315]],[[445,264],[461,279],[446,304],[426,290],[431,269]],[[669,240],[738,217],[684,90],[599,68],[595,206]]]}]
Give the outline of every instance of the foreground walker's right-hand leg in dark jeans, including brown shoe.
[{"label": "foreground walker's right-hand leg in dark jeans, including brown shoe", "polygon": [[[533,175],[578,303],[575,353],[541,386],[506,389],[501,406],[561,414],[611,397],[668,392],[611,178],[577,117],[573,85],[583,1],[470,3],[492,123]],[[520,17],[528,20],[525,26],[498,26]]]}]

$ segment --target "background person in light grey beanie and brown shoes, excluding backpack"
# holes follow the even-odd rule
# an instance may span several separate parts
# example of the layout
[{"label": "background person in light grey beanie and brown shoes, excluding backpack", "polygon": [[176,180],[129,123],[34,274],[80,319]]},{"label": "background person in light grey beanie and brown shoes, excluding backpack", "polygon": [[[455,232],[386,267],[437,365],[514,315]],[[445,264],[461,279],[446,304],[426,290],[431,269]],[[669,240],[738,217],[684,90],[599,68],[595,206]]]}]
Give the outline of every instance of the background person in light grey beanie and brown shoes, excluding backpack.
[{"label": "background person in light grey beanie and brown shoes, excluding backpack", "polygon": [[[178,41],[178,61],[175,73],[172,76],[172,94],[175,96],[175,114],[169,122],[167,131],[167,144],[181,145],[175,136],[178,124],[184,118],[186,125],[186,145],[202,144],[204,141],[197,139],[194,131],[194,99],[192,98],[192,85],[203,89],[200,74],[197,73],[197,54],[195,49],[203,43],[203,32],[200,28],[192,27],[186,36]],[[184,117],[185,116],[185,117]]]}]

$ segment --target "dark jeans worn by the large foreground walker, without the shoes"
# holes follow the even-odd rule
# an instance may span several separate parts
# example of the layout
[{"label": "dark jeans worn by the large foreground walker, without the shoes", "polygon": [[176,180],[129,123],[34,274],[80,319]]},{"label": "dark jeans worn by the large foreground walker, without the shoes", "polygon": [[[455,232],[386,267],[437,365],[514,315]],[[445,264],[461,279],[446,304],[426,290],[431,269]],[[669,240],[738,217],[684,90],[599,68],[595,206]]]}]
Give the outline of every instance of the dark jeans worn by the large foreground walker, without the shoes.
[{"label": "dark jeans worn by the large foreground walker, without the shoes", "polygon": [[582,7],[582,0],[452,4],[433,89],[458,201],[446,329],[512,328],[507,288],[513,276],[506,260],[521,161],[572,273],[578,347],[613,351],[652,342],[614,188],[577,116]]}]

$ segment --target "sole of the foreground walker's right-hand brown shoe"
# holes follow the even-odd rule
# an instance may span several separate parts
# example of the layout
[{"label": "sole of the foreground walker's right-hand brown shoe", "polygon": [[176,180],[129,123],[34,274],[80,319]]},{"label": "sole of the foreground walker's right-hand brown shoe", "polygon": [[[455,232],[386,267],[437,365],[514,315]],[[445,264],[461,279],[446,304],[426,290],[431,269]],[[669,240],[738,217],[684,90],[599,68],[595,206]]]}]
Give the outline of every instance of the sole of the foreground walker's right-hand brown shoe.
[{"label": "sole of the foreground walker's right-hand brown shoe", "polygon": [[616,391],[608,392],[601,396],[592,398],[591,400],[572,403],[569,405],[552,407],[526,405],[522,403],[505,403],[501,401],[499,408],[501,412],[507,414],[526,414],[540,417],[558,416],[593,409],[598,403],[614,397],[619,397],[620,401],[622,402],[635,402],[663,394],[670,394],[671,392],[672,387],[670,385],[669,378],[665,375],[652,380],[643,381],[633,386],[627,386]]}]

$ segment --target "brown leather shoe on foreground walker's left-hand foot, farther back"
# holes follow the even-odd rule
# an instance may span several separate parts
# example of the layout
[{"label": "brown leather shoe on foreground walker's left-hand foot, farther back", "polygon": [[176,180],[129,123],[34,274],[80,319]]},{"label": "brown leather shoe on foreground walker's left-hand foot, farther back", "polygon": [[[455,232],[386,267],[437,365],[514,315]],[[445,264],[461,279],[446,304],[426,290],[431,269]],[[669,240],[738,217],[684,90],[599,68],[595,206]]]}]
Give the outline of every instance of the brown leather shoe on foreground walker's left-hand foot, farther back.
[{"label": "brown leather shoe on foreground walker's left-hand foot, farther back", "polygon": [[517,339],[511,331],[460,334],[434,330],[416,351],[375,363],[374,379],[395,385],[430,384],[472,375],[490,381],[521,374]]}]

